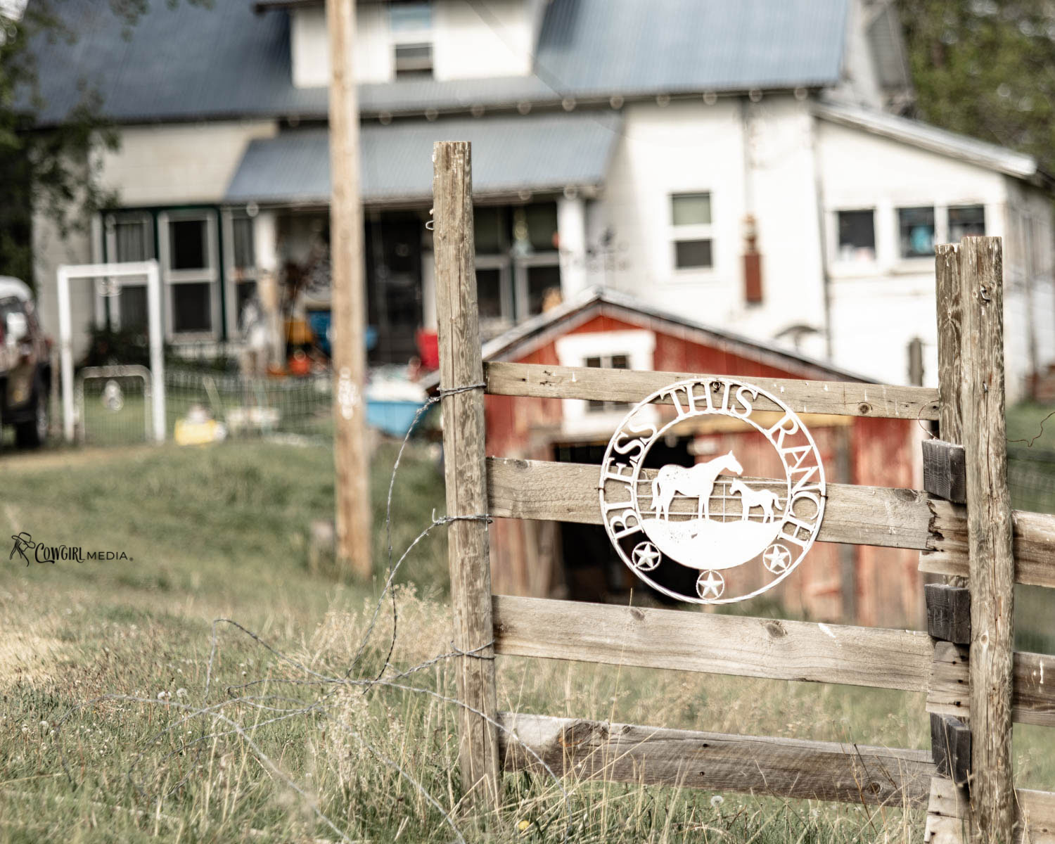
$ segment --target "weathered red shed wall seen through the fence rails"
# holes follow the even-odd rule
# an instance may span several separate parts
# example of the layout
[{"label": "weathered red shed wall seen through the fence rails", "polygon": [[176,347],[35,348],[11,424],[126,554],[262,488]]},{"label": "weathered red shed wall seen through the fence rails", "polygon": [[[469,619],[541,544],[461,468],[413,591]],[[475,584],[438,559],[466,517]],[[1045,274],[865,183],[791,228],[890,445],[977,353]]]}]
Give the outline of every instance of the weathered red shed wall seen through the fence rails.
[{"label": "weathered red shed wall seen through the fence rails", "polygon": [[[629,322],[599,314],[564,333],[639,330],[655,333],[653,368],[674,372],[706,372],[752,378],[825,378],[823,370],[804,364],[800,371],[780,368],[729,350],[656,330],[647,319]],[[518,363],[558,365],[555,342],[521,357]],[[829,377],[830,378],[830,377]],[[487,454],[552,460],[553,444],[561,441],[562,402],[487,396],[485,403]],[[829,482],[910,487],[917,438],[906,420],[861,417],[810,423],[810,431]],[[713,434],[703,439],[715,453],[737,447],[743,435]],[[745,474],[754,460],[746,443],[738,446]],[[845,459],[841,456],[845,453]],[[761,458],[760,458],[761,459]],[[771,473],[769,473],[771,474]],[[922,580],[918,553],[864,545],[817,543],[795,572],[767,593],[783,610],[821,620],[856,620],[871,626],[918,626],[922,614]],[[855,574],[851,600],[844,595],[844,560]],[[542,522],[497,519],[492,525],[492,572],[496,593],[548,596],[560,582],[559,532]],[[600,597],[600,596],[598,596]]]}]

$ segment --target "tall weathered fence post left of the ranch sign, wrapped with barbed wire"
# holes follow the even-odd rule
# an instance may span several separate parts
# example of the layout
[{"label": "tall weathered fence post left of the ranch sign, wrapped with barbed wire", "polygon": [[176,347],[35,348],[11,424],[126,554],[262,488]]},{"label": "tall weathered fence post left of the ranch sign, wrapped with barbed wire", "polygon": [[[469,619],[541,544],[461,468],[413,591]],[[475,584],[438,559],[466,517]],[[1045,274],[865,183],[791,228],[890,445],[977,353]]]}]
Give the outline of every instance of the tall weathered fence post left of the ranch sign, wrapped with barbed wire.
[{"label": "tall weathered fence post left of the ranch sign, wrapped with barbed wire", "polygon": [[[483,382],[469,145],[438,142],[433,162],[440,388],[448,390]],[[487,512],[483,390],[446,395],[442,406],[447,515],[480,516]],[[495,806],[498,735],[487,523],[482,519],[454,521],[448,541],[455,647],[466,654],[454,663],[458,698],[464,704],[458,710],[462,782],[466,792]]]}]

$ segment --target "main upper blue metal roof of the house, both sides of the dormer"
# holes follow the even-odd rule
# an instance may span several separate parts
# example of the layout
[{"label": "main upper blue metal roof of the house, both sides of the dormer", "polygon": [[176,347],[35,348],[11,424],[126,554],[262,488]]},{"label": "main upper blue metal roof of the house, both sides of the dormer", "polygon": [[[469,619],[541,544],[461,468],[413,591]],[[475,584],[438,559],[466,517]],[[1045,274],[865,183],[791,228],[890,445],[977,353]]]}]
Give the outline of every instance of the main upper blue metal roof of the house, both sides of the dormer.
[{"label": "main upper blue metal roof of the house, both sides of the dormer", "polygon": [[[553,0],[533,75],[364,84],[360,107],[365,115],[397,114],[822,88],[840,79],[848,2]],[[255,14],[253,0],[149,0],[129,27],[110,5],[64,0],[57,12],[76,40],[34,43],[42,124],[66,118],[83,96],[82,82],[118,122],[326,116],[325,88],[292,83],[286,8]],[[487,23],[485,7],[469,5]]]}]

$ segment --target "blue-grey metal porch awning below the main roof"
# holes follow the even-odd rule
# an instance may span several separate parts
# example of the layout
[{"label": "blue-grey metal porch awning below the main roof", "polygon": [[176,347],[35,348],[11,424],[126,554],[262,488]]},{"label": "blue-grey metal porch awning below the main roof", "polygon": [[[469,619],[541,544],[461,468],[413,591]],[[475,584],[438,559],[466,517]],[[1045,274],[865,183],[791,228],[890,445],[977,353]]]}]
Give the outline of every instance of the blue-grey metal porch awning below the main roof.
[{"label": "blue-grey metal porch awning below the main roof", "polygon": [[[370,123],[360,136],[362,197],[428,202],[437,140],[473,143],[476,196],[596,187],[620,129],[619,115],[609,111]],[[251,141],[225,199],[325,205],[329,197],[329,131],[303,129]]]}]

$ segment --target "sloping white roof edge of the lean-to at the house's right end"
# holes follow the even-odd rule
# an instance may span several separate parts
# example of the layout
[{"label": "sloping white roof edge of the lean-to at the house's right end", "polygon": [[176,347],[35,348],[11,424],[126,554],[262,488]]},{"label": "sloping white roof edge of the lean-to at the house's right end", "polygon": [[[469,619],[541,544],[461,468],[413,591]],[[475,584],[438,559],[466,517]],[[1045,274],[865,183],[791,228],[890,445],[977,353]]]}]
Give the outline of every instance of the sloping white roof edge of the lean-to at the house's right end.
[{"label": "sloping white roof edge of the lean-to at the house's right end", "polygon": [[814,102],[811,108],[813,114],[822,120],[851,129],[863,129],[874,135],[959,158],[1035,185],[1049,188],[1055,186],[1055,177],[1042,170],[1036,158],[1009,150],[1006,147],[997,147],[995,143],[947,132],[919,120],[862,109],[858,106]]}]

